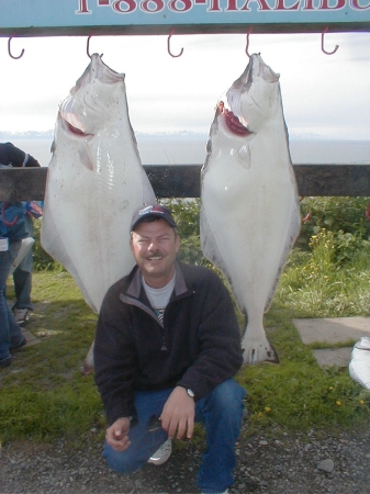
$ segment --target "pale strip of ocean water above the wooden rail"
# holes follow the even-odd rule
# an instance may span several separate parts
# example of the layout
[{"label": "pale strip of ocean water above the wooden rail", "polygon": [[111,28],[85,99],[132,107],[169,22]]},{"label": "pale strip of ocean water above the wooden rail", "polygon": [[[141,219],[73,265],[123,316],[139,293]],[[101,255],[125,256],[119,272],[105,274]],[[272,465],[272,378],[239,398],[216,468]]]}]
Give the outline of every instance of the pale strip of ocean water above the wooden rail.
[{"label": "pale strip of ocean water above the wooden rail", "polygon": [[[14,138],[2,135],[2,142],[31,154],[43,167],[48,166],[53,137]],[[206,153],[208,136],[137,136],[143,165],[202,165]],[[294,165],[369,165],[370,141],[291,139],[290,151]]]}]

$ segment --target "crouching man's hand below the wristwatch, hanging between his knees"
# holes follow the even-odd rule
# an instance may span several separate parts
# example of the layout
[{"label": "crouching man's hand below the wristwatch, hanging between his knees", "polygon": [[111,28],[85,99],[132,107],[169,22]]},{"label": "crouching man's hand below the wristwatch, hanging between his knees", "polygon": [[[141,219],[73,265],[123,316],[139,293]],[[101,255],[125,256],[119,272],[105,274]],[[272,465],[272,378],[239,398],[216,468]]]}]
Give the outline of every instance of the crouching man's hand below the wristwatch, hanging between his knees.
[{"label": "crouching man's hand below the wristwatch, hanging between his knees", "polygon": [[173,439],[176,433],[178,439],[181,439],[186,433],[187,438],[191,439],[194,430],[194,398],[188,395],[184,388],[176,386],[168,396],[160,415],[161,426],[170,439]]}]

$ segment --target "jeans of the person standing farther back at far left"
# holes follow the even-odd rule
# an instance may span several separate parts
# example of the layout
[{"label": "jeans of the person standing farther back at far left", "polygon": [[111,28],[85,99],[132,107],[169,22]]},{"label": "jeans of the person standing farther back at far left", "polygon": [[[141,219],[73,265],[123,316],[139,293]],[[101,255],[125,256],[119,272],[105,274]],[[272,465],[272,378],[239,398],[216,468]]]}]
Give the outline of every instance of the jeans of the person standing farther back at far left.
[{"label": "jeans of the person standing farther back at far left", "polygon": [[[29,214],[25,215],[25,229],[29,232],[29,236],[32,237],[33,221]],[[31,302],[32,266],[33,249],[31,247],[13,272],[15,303],[12,308],[30,308],[30,311],[33,311],[33,304]]]}]

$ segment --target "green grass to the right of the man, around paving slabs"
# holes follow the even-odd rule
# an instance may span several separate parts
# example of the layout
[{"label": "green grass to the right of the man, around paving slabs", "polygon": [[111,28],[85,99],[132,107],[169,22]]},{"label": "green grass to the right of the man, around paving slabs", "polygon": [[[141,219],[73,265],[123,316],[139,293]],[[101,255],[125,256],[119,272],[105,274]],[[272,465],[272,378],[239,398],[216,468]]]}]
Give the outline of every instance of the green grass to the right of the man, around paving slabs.
[{"label": "green grass to the right of the man, around paving slabs", "polygon": [[[332,431],[369,424],[370,392],[356,383],[347,368],[321,368],[304,345],[292,319],[300,317],[368,316],[370,251],[357,250],[337,263],[327,252],[327,236],[312,251],[294,250],[281,277],[265,326],[280,357],[278,366],[248,366],[240,382],[250,392],[251,429],[281,427]],[[348,340],[336,347],[352,346]]]}]

